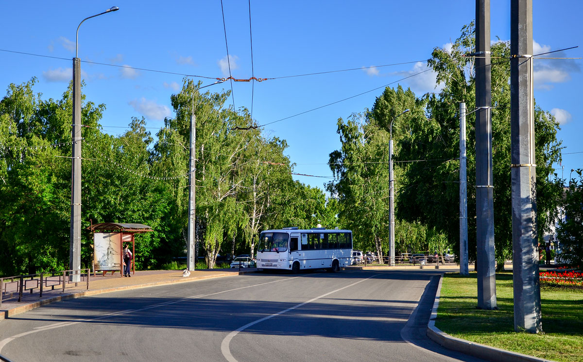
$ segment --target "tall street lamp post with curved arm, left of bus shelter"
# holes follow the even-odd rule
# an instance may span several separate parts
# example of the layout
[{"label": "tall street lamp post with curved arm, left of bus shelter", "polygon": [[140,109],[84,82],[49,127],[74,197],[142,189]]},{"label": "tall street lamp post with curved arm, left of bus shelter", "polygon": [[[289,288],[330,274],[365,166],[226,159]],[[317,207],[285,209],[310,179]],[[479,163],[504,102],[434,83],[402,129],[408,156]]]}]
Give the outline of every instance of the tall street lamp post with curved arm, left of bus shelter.
[{"label": "tall street lamp post with curved arm, left of bus shelter", "polygon": [[75,58],[73,58],[73,129],[72,138],[72,166],[71,166],[71,242],[69,244],[69,269],[73,272],[70,281],[79,282],[81,275],[75,271],[81,269],[81,59],[78,58],[79,27],[85,20],[99,15],[119,10],[112,6],[103,13],[83,19],[77,27],[75,36]]}]

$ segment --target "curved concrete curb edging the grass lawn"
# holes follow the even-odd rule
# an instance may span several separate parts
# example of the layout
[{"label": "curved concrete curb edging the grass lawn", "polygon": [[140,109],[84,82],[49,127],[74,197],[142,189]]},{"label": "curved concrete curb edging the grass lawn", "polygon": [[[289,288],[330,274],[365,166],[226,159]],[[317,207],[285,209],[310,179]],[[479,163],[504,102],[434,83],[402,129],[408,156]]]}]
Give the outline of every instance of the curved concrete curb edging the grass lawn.
[{"label": "curved concrete curb edging the grass lawn", "polygon": [[482,345],[480,343],[470,342],[469,340],[455,338],[435,326],[437,319],[437,307],[441,295],[441,283],[443,274],[440,275],[439,285],[437,286],[436,299],[433,303],[431,318],[427,324],[427,336],[434,342],[444,346],[447,349],[459,351],[470,356],[479,357],[480,359],[495,362],[554,362],[552,360],[541,359],[539,357],[529,356],[518,352],[512,352],[505,349]]}]

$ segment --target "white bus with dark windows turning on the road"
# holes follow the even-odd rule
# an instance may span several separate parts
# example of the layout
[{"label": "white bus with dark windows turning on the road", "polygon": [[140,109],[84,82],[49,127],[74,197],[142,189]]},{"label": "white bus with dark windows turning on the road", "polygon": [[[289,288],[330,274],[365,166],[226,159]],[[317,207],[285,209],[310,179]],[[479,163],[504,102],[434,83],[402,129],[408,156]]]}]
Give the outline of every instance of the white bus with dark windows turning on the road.
[{"label": "white bus with dark windows turning on the road", "polygon": [[352,263],[352,231],[312,228],[265,230],[259,236],[257,268],[339,271]]}]

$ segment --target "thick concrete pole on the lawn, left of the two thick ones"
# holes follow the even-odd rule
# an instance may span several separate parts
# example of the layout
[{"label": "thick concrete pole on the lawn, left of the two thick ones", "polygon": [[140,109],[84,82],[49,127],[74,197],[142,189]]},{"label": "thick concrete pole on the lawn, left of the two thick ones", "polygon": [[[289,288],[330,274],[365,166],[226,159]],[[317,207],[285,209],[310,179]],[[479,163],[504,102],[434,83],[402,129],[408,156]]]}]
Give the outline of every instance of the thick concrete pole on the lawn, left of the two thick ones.
[{"label": "thick concrete pole on the lawn, left of the two thick ones", "polygon": [[490,74],[490,0],[476,0],[477,307],[496,309]]}]

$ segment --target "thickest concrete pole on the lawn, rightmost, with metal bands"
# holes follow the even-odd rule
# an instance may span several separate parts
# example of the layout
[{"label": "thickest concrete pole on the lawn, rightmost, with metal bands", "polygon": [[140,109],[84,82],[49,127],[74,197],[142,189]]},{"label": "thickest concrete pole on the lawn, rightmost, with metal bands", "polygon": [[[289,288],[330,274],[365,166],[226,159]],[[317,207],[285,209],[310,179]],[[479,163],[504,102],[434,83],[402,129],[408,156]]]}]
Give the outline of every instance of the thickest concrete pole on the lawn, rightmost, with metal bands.
[{"label": "thickest concrete pole on the lawn, rightmost, with metal bands", "polygon": [[536,235],[532,0],[510,5],[510,136],[514,330],[542,332]]}]

